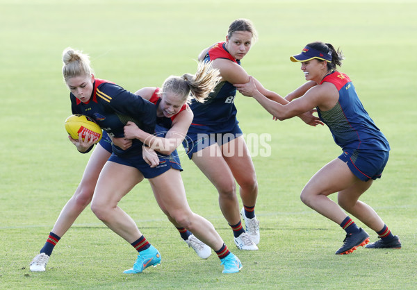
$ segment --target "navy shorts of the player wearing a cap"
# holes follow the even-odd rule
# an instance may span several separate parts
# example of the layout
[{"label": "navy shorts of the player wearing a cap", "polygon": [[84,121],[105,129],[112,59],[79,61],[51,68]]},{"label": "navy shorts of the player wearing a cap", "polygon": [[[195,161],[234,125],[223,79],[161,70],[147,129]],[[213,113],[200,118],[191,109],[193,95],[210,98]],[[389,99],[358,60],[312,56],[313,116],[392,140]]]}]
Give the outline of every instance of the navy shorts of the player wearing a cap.
[{"label": "navy shorts of the player wearing a cap", "polygon": [[350,171],[360,180],[368,181],[381,178],[386,162],[388,162],[389,151],[382,150],[350,150],[343,151],[338,156],[345,162]]}]

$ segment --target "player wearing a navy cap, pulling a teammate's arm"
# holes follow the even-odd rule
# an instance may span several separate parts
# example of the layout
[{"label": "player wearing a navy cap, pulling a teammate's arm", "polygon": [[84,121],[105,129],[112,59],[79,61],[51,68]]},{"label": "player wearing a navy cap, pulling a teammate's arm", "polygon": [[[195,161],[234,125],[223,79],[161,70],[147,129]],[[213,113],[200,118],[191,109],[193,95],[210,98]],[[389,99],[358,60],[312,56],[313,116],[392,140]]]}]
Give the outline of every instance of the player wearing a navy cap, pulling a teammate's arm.
[{"label": "player wearing a navy cap, pulling a teammate's arm", "polygon": [[[336,255],[352,253],[369,242],[365,230],[359,228],[343,210],[377,232],[380,239],[366,248],[401,248],[398,236],[391,233],[375,210],[359,201],[373,180],[381,178],[390,147],[363,108],[349,76],[336,70],[336,66],[341,66],[341,60],[341,51],[323,42],[307,44],[302,53],[291,56],[291,61],[301,62],[306,80],[315,85],[308,90],[305,87],[295,89],[286,96],[291,101],[286,105],[266,98],[252,77],[249,83],[235,86],[240,93],[256,99],[279,120],[316,108],[334,141],[341,146],[343,153],[322,167],[301,192],[303,203],[345,230],[343,246]],[[338,204],[327,197],[335,192],[338,192]]]}]

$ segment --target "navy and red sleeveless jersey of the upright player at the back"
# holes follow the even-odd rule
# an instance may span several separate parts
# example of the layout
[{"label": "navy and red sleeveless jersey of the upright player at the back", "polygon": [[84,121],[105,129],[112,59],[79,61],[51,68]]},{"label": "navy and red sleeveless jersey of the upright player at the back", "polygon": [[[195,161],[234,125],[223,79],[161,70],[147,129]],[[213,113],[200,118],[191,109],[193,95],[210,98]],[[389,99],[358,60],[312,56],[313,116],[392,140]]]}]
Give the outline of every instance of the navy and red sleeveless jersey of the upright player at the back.
[{"label": "navy and red sleeveless jersey of the upright player at the back", "polygon": [[[208,50],[204,61],[212,61],[224,58],[240,65],[240,60],[236,60],[227,51],[226,42],[218,42]],[[224,125],[226,123],[236,123],[237,110],[234,105],[236,87],[227,81],[222,81],[215,87],[208,99],[204,103],[195,100],[191,101],[190,108],[193,110],[194,119],[191,129],[202,125]]]}]

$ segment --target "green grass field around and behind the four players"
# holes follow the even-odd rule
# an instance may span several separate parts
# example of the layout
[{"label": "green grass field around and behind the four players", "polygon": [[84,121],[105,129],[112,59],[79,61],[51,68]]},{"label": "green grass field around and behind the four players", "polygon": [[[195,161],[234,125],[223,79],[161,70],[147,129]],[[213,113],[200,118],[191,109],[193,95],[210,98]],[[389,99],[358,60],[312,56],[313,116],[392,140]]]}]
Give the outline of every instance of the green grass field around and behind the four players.
[{"label": "green grass field around and behind the four players", "polygon": [[[416,289],[417,1],[0,0],[0,16],[0,289]],[[259,251],[236,249],[217,192],[185,158],[182,176],[190,207],[240,257],[240,273],[222,275],[214,253],[202,260],[186,247],[147,181],[120,206],[161,251],[161,266],[122,274],[135,251],[87,208],[56,246],[47,271],[30,272],[88,160],[63,126],[70,115],[63,49],[89,53],[98,78],[134,92],[194,72],[199,51],[223,40],[239,17],[252,19],[259,32],[243,67],[282,95],[304,80],[289,56],[306,43],[343,49],[341,71],[392,148],[382,180],[362,201],[400,236],[403,248],[334,255],[343,230],[306,207],[299,194],[340,148],[327,128],[299,119],[274,122],[254,100],[239,96],[243,131],[271,135],[270,155],[253,157]],[[365,229],[375,241],[375,232]]]}]

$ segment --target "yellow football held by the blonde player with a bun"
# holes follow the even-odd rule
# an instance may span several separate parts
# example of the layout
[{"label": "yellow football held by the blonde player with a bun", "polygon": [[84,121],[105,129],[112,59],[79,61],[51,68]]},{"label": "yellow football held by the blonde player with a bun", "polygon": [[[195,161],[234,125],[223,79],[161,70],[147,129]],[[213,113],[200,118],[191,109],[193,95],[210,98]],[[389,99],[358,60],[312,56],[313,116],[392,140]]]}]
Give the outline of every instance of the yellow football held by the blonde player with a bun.
[{"label": "yellow football held by the blonde player with a bun", "polygon": [[83,140],[85,134],[90,134],[97,138],[95,143],[99,142],[103,135],[100,126],[93,119],[83,114],[73,114],[68,117],[65,120],[65,130],[74,139],[79,139],[79,133],[81,133]]}]

